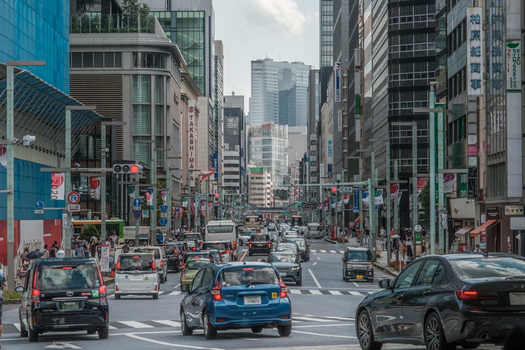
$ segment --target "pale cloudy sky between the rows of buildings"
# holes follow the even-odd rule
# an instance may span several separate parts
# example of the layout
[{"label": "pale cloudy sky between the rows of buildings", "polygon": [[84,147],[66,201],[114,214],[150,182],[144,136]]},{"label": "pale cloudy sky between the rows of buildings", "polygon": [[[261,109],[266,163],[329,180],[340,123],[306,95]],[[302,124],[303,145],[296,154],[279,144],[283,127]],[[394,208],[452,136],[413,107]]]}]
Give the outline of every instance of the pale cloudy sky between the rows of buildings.
[{"label": "pale cloudy sky between the rows of buildings", "polygon": [[250,61],[266,57],[319,68],[319,0],[215,0],[224,46],[224,95],[251,95]]}]

